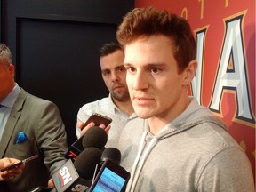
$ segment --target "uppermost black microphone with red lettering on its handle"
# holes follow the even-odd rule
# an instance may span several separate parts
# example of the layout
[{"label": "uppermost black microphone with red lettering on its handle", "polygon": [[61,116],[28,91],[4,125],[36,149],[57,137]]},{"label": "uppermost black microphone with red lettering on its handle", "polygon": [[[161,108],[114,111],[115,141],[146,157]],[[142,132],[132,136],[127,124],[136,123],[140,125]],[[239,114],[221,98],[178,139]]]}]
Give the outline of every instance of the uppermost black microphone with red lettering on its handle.
[{"label": "uppermost black microphone with red lettering on its handle", "polygon": [[107,143],[108,135],[100,127],[94,126],[84,133],[84,136],[76,140],[65,154],[66,159],[76,161],[76,157],[84,150],[84,148],[104,148]]}]

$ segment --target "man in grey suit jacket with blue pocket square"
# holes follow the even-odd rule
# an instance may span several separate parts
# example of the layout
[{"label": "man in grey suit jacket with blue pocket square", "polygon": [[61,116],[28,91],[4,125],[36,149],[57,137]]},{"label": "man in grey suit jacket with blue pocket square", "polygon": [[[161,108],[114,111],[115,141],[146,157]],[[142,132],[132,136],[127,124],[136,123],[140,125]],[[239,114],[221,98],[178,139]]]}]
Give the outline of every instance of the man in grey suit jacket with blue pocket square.
[{"label": "man in grey suit jacket with blue pocket square", "polygon": [[52,173],[65,163],[67,150],[59,109],[14,82],[11,52],[0,44],[0,158],[21,160],[38,155],[19,176],[1,181],[1,191],[23,192],[37,186],[46,187]]}]

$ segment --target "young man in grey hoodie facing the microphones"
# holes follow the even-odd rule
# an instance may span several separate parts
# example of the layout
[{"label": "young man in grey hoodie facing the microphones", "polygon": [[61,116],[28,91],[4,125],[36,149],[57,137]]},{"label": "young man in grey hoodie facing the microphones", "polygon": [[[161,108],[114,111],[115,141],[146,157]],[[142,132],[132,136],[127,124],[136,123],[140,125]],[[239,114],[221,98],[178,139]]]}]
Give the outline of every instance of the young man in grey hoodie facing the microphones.
[{"label": "young man in grey hoodie facing the microphones", "polygon": [[132,106],[145,119],[143,127],[126,124],[117,147],[131,172],[126,191],[254,191],[242,148],[225,124],[188,96],[197,67],[188,22],[136,8],[116,37],[124,46]]}]

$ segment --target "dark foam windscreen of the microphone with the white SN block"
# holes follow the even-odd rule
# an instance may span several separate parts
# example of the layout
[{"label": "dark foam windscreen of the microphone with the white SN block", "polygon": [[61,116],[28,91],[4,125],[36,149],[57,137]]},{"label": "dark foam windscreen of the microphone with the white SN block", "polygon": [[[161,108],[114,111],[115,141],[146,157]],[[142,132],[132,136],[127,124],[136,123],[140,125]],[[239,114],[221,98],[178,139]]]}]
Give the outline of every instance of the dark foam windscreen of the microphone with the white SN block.
[{"label": "dark foam windscreen of the microphone with the white SN block", "polygon": [[74,162],[79,176],[85,180],[92,180],[96,164],[100,164],[101,155],[102,151],[99,148],[85,148]]}]

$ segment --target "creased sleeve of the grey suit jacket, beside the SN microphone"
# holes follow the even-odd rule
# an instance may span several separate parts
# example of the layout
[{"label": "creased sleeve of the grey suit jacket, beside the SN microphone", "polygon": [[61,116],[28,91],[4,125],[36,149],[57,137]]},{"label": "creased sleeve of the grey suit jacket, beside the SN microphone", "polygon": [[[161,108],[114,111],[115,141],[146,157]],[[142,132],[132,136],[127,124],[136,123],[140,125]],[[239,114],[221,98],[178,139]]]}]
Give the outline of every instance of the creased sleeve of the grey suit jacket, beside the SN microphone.
[{"label": "creased sleeve of the grey suit jacket, beside the SN microphone", "polygon": [[44,103],[38,116],[36,140],[44,153],[44,164],[52,174],[65,163],[64,155],[68,150],[65,126],[59,109],[52,102]]}]

